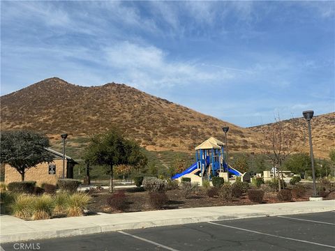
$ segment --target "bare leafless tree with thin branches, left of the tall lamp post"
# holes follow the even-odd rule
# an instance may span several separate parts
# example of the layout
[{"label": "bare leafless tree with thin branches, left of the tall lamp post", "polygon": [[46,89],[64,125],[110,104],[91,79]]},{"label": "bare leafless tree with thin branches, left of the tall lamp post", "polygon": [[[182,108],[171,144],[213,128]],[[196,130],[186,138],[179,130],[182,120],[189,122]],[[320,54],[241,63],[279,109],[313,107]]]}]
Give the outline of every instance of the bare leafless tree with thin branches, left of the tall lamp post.
[{"label": "bare leafless tree with thin branches, left of the tall lamp post", "polygon": [[[280,191],[281,187],[284,188],[281,165],[295,151],[293,141],[297,135],[295,135],[292,128],[285,126],[285,122],[279,114],[275,117],[275,123],[262,126],[261,132],[262,137],[259,139],[261,151],[274,163],[274,167],[278,169],[278,190]],[[279,171],[281,171],[281,174]]]}]

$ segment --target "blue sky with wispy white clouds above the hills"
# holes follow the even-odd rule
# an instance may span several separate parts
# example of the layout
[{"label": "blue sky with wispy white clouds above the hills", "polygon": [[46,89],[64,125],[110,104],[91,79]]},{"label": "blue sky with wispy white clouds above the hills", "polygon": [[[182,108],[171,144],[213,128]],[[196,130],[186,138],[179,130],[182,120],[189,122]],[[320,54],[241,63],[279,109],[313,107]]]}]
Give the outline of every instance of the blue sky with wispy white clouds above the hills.
[{"label": "blue sky with wispy white clouds above the hills", "polygon": [[334,1],[1,1],[1,95],[124,83],[255,126],[335,111]]}]

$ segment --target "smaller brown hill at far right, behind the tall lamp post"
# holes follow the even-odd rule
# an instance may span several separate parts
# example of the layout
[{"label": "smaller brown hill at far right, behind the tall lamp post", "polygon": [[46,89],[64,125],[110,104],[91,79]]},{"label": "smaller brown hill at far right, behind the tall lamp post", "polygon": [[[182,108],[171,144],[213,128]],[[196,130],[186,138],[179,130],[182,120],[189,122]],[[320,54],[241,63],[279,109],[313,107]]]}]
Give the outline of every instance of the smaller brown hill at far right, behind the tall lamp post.
[{"label": "smaller brown hill at far right, behind the tall lamp post", "polygon": [[[299,151],[309,153],[307,121],[301,117],[282,122],[284,127],[296,136],[294,140]],[[263,126],[253,126],[250,129],[263,134],[273,130],[273,126],[274,123],[269,123]],[[328,157],[330,149],[335,148],[335,112],[313,117],[311,128],[314,154],[321,158]]]}]

